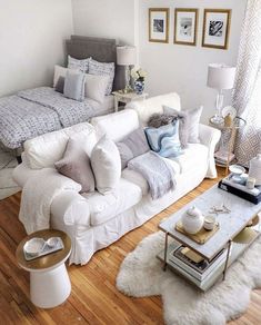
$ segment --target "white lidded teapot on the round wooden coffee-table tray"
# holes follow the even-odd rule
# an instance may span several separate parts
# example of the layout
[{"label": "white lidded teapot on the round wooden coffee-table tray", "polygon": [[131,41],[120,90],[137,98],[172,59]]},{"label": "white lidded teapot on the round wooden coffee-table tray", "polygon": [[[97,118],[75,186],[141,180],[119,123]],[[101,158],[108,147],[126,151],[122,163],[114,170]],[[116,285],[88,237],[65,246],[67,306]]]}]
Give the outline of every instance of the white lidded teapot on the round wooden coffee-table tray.
[{"label": "white lidded teapot on the round wooden coffee-table tray", "polygon": [[189,208],[181,218],[182,226],[188,234],[194,235],[203,227],[204,217],[199,208]]}]

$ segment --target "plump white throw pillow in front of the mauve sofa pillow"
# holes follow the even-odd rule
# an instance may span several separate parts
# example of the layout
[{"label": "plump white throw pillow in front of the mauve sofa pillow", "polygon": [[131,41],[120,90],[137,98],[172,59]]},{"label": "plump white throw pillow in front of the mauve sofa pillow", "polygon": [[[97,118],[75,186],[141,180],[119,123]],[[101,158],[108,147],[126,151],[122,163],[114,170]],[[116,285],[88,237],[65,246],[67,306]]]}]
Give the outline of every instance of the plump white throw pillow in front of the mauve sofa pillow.
[{"label": "plump white throw pillow in front of the mauve sofa pillow", "polygon": [[91,166],[99,193],[112,193],[121,177],[121,158],[116,144],[103,136],[91,154]]}]

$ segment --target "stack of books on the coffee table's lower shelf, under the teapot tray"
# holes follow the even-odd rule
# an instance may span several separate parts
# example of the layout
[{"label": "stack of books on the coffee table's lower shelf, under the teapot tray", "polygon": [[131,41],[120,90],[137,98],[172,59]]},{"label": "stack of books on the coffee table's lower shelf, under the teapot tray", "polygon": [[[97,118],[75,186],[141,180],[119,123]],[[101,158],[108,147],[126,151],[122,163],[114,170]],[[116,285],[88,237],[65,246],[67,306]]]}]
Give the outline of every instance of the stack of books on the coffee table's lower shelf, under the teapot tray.
[{"label": "stack of books on the coffee table's lower shelf, under the teapot tray", "polygon": [[202,285],[209,280],[217,272],[220,272],[220,267],[224,267],[228,249],[219,252],[211,260],[204,258],[189,257],[191,250],[181,245],[169,254],[169,260],[173,264],[174,268],[182,273],[190,274],[193,278],[200,282]]}]

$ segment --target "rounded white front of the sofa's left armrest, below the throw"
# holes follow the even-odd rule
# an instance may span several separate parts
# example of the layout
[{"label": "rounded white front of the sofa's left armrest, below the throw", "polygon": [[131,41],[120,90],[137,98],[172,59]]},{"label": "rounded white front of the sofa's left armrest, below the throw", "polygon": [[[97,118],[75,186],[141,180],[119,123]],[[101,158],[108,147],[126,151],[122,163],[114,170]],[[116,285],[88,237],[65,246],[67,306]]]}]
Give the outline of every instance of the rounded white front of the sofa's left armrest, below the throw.
[{"label": "rounded white front of the sofa's left armrest, below the throw", "polygon": [[67,226],[90,226],[90,208],[88,201],[77,191],[63,190],[51,205],[51,215]]}]

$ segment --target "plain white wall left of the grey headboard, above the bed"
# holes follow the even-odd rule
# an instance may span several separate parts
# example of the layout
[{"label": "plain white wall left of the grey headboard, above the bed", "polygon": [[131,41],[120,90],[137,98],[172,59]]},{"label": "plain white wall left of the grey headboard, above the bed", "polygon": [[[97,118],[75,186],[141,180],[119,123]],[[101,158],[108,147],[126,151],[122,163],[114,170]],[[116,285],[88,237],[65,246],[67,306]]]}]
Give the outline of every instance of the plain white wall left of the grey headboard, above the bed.
[{"label": "plain white wall left of the grey headboard, above the bed", "polygon": [[71,33],[71,0],[0,0],[0,96],[51,85]]}]

